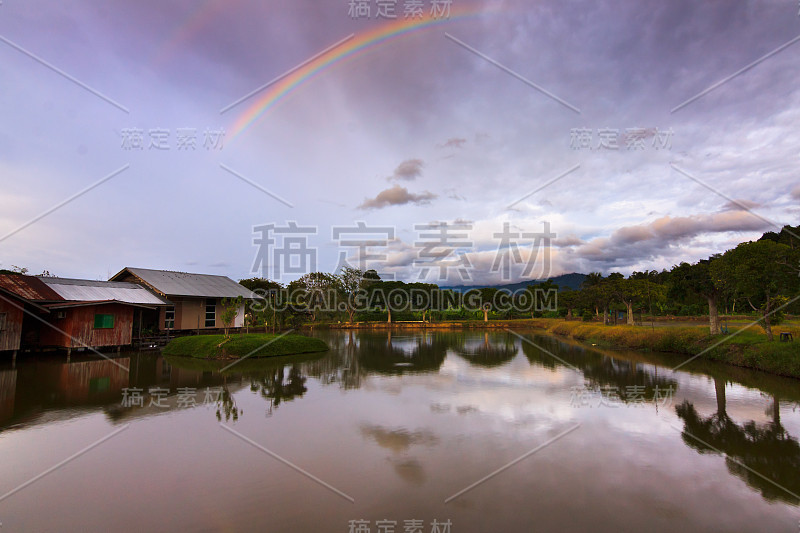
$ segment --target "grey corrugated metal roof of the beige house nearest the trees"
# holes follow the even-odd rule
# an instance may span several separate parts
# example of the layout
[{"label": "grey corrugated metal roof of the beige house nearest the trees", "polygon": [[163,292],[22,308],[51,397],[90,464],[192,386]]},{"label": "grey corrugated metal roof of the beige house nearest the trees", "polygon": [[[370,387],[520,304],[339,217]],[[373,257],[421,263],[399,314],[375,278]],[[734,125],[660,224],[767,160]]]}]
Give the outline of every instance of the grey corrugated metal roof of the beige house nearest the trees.
[{"label": "grey corrugated metal roof of the beige house nearest the trees", "polygon": [[208,298],[235,298],[241,296],[243,298],[258,298],[258,295],[253,294],[247,288],[226,276],[128,267],[124,268],[114,278],[122,277],[126,272],[133,274],[147,285],[167,296]]}]

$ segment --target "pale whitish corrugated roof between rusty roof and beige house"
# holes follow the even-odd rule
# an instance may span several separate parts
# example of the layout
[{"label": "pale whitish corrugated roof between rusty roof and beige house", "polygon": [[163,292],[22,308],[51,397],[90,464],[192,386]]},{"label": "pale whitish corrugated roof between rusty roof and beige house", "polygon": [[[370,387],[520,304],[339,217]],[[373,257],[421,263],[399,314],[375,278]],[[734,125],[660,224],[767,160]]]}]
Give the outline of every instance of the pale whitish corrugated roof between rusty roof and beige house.
[{"label": "pale whitish corrugated roof between rusty roof and beige house", "polygon": [[121,281],[92,281],[88,279],[39,278],[61,299],[86,302],[116,300],[142,305],[172,305],[168,300],[153,294],[141,285]]}]

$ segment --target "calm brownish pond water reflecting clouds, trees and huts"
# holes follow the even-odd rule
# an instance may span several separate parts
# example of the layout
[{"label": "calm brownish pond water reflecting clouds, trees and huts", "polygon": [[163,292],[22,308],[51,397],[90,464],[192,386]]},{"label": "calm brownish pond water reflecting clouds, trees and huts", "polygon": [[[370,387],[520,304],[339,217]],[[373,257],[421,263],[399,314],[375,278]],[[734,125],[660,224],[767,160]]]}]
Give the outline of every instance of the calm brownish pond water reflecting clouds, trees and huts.
[{"label": "calm brownish pond water reflecting clouds, trees and huts", "polygon": [[530,331],[314,335],[223,373],[2,361],[2,530],[798,530],[800,381]]}]

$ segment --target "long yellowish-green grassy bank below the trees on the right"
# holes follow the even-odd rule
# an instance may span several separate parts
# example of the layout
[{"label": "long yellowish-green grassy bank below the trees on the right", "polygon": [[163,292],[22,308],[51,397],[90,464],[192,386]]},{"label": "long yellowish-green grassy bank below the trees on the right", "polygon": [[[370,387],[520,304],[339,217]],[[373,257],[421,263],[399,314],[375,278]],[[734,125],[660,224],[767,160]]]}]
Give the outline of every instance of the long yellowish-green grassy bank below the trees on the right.
[{"label": "long yellowish-green grassy bank below the trees on the right", "polygon": [[[548,319],[532,320],[530,324],[554,335],[600,346],[690,356],[702,354],[700,357],[703,359],[800,378],[800,331],[794,326],[774,328],[776,340],[770,342],[757,326],[739,333],[738,328],[731,328],[729,335],[712,337],[705,326],[651,329]],[[796,340],[779,342],[777,338],[781,331],[791,331]]]}]

